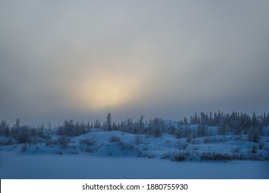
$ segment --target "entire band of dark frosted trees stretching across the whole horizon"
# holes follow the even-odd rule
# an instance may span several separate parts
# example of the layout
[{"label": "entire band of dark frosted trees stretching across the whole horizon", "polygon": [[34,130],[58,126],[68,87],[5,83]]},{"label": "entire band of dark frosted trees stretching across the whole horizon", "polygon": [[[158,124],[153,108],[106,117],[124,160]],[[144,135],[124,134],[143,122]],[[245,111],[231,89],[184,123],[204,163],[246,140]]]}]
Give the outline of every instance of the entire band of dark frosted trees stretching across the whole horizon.
[{"label": "entire band of dark frosted trees stretching across the whole horizon", "polygon": [[[192,127],[190,127],[192,125]],[[195,125],[195,126],[193,126]],[[192,141],[197,137],[210,136],[212,133],[209,127],[217,127],[217,134],[247,134],[248,140],[257,143],[260,136],[268,135],[269,133],[264,128],[269,125],[269,114],[261,114],[256,116],[253,112],[252,116],[246,113],[232,112],[224,114],[223,112],[195,114],[186,117],[177,122],[164,121],[161,118],[155,118],[150,121],[143,121],[143,116],[139,121],[127,119],[121,123],[112,121],[111,113],[106,116],[106,122],[96,120],[94,123],[79,123],[72,120],[64,121],[62,125],[52,129],[50,125],[45,128],[43,125],[37,128],[30,128],[27,125],[20,125],[19,119],[16,123],[9,127],[6,121],[1,121],[0,135],[12,136],[17,139],[18,143],[29,143],[33,138],[48,139],[52,134],[59,136],[79,136],[91,132],[92,128],[100,128],[103,130],[117,130],[128,132],[131,134],[150,134],[155,137],[161,136],[164,132],[174,134],[177,138],[187,138],[187,141]],[[194,129],[195,128],[195,129]]]}]

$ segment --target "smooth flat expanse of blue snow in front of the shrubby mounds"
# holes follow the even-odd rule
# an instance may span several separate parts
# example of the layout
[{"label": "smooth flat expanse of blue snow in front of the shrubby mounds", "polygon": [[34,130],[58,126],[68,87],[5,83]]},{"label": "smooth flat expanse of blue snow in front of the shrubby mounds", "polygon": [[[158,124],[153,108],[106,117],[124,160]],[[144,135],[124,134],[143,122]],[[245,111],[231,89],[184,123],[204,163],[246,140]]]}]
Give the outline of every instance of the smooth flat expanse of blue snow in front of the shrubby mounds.
[{"label": "smooth flat expanse of blue snow in front of the shrubby mounds", "polygon": [[132,156],[1,153],[0,179],[269,179],[263,161],[172,162]]}]

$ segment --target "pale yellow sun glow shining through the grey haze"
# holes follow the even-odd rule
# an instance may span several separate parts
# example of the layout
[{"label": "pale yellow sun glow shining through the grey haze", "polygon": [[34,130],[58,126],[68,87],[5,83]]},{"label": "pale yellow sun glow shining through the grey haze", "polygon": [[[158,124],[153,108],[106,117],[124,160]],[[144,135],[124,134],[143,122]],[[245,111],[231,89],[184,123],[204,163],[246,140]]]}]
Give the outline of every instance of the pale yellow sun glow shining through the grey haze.
[{"label": "pale yellow sun glow shining through the grey haze", "polygon": [[120,108],[135,99],[141,82],[134,77],[104,74],[81,79],[72,86],[72,103],[85,110]]}]

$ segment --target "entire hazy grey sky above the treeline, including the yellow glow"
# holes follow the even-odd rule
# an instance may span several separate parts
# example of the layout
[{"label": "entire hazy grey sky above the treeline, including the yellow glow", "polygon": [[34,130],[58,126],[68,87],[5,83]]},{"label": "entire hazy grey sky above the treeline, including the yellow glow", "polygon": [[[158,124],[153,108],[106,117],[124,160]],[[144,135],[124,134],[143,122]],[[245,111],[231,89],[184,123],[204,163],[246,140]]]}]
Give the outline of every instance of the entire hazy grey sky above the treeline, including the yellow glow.
[{"label": "entire hazy grey sky above the treeline, including the yellow glow", "polygon": [[0,0],[0,119],[268,112],[268,10],[246,0]]}]

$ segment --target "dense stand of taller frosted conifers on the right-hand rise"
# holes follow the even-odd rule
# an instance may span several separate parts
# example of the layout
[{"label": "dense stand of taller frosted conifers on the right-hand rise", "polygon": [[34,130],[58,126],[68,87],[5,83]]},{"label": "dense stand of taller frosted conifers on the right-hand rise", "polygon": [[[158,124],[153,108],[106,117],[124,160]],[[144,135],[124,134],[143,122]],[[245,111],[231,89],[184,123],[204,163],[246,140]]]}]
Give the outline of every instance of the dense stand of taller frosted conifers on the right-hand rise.
[{"label": "dense stand of taller frosted conifers on the right-hand rise", "polygon": [[[189,125],[197,125],[197,131],[190,130]],[[252,116],[246,113],[232,112],[224,114],[218,113],[204,113],[200,115],[190,116],[190,119],[186,117],[179,121],[178,128],[175,129],[175,135],[178,138],[187,137],[195,138],[202,136],[210,136],[209,127],[217,127],[217,134],[247,134],[248,140],[257,143],[260,136],[268,135],[268,132],[264,132],[263,128],[269,125],[269,114],[261,114],[256,116],[253,112]],[[171,130],[171,129],[170,129]],[[172,128],[172,132],[173,132]]]}]

